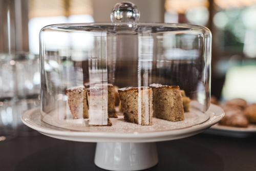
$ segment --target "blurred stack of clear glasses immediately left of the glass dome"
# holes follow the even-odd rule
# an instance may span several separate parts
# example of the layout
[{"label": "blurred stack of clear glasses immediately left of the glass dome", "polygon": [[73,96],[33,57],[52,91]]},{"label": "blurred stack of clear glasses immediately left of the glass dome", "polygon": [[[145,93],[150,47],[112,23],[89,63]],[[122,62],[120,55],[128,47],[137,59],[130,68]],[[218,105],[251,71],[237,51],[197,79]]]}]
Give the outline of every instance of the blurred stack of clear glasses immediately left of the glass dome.
[{"label": "blurred stack of clear glasses immediately left of the glass dome", "polygon": [[[30,109],[38,108],[40,92],[39,58],[31,54],[19,54],[15,57],[16,94],[15,106],[18,118]],[[18,135],[37,135],[37,132],[17,122]]]}]

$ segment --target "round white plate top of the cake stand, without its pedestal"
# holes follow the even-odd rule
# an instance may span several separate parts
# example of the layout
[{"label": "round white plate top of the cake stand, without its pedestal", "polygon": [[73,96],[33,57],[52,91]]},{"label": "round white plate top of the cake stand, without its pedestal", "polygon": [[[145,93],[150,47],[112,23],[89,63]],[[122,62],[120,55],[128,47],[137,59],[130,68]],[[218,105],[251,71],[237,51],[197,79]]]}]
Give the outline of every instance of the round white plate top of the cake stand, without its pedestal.
[{"label": "round white plate top of the cake stand, without its pedestal", "polygon": [[[120,120],[120,122],[122,122],[124,126],[130,125],[131,127],[136,127],[136,129],[134,129],[136,131],[133,130],[132,132],[127,131],[127,129],[117,130],[115,129],[115,126],[111,126],[112,128],[107,126],[99,126],[95,128],[94,126],[87,131],[73,131],[68,129],[61,129],[60,127],[52,126],[45,122],[42,122],[39,109],[32,109],[30,111],[27,111],[22,116],[22,121],[27,126],[31,127],[34,130],[37,130],[42,134],[64,140],[81,142],[156,142],[185,138],[201,133],[203,130],[220,121],[224,116],[224,112],[219,106],[210,105],[206,113],[201,113],[201,115],[198,116],[204,118],[205,116],[207,116],[208,119],[206,119],[206,121],[202,123],[198,123],[195,125],[188,124],[188,126],[181,126],[182,128],[180,129],[174,129],[174,127],[169,127],[168,124],[171,123],[176,125],[182,125],[186,122],[186,119],[185,121],[180,122],[168,122],[158,119],[157,121],[162,123],[168,122],[168,124],[155,123],[155,126],[154,124],[153,126],[140,126],[134,123],[127,123],[121,121],[120,118],[117,119]],[[113,123],[113,125],[115,125],[115,123]]]}]

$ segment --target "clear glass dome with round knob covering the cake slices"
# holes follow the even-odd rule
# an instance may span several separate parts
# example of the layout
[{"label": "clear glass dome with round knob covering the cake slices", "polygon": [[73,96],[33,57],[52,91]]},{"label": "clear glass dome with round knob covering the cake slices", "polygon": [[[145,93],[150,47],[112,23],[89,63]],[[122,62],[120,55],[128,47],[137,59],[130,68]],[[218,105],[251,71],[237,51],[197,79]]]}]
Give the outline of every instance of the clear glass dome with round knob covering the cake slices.
[{"label": "clear glass dome with round knob covering the cake slices", "polygon": [[112,23],[40,31],[41,119],[76,131],[182,129],[206,121],[211,33],[202,26],[139,23],[118,3]]}]

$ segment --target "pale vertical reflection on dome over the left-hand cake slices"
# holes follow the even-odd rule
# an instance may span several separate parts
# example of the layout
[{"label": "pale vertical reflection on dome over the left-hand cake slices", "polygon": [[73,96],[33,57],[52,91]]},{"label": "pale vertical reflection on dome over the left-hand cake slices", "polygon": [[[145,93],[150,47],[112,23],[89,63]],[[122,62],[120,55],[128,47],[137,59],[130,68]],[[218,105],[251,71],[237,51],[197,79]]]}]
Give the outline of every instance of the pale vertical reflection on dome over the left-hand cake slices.
[{"label": "pale vertical reflection on dome over the left-hand cake slices", "polygon": [[89,57],[88,107],[90,125],[108,124],[108,70],[106,35],[95,37],[95,48]]}]

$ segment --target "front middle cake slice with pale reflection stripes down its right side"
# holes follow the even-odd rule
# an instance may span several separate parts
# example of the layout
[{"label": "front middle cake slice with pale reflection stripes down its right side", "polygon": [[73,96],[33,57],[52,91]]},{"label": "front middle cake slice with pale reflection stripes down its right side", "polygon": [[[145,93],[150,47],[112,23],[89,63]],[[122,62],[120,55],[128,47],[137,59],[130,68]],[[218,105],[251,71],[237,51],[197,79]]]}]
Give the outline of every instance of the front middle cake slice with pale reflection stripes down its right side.
[{"label": "front middle cake slice with pale reflection stripes down its right side", "polygon": [[118,89],[124,120],[139,125],[152,125],[152,89],[148,87]]}]

